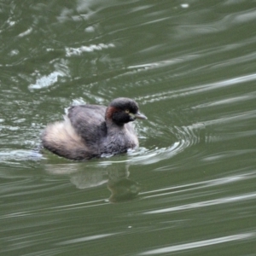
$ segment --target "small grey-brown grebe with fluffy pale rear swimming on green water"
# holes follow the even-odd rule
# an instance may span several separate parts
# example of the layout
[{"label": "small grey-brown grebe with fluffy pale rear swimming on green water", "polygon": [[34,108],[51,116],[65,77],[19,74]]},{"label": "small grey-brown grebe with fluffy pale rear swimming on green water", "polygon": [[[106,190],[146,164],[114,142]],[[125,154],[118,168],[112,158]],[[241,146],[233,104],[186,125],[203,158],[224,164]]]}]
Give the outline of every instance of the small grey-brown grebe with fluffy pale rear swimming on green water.
[{"label": "small grey-brown grebe with fluffy pale rear swimming on green water", "polygon": [[44,148],[70,160],[90,160],[123,154],[139,143],[132,121],[147,119],[138,104],[126,97],[113,99],[108,107],[76,105],[67,109],[64,120],[49,124],[41,139]]}]

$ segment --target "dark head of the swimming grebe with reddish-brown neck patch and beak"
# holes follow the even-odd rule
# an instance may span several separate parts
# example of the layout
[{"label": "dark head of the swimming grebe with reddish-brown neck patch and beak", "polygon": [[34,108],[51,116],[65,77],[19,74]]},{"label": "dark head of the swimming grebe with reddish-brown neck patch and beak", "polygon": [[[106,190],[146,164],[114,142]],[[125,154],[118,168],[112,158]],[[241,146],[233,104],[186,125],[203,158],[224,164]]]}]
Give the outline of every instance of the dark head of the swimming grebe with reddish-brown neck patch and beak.
[{"label": "dark head of the swimming grebe with reddish-brown neck patch and beak", "polygon": [[106,119],[112,120],[116,125],[124,125],[135,119],[147,119],[147,117],[139,112],[137,102],[129,98],[116,98],[107,108]]}]

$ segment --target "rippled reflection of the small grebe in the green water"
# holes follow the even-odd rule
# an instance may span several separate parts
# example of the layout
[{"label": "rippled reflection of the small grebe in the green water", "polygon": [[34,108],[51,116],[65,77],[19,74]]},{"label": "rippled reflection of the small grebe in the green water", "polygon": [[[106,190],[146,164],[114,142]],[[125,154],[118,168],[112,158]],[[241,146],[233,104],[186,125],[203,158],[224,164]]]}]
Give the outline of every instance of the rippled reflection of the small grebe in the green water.
[{"label": "rippled reflection of the small grebe in the green water", "polygon": [[129,201],[137,197],[141,191],[141,185],[129,178],[129,166],[124,163],[107,165],[84,165],[84,163],[45,165],[47,172],[53,175],[65,175],[70,177],[78,189],[89,189],[107,183],[111,192],[109,201]]}]

